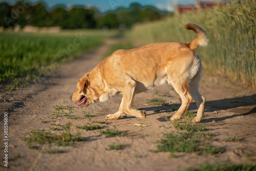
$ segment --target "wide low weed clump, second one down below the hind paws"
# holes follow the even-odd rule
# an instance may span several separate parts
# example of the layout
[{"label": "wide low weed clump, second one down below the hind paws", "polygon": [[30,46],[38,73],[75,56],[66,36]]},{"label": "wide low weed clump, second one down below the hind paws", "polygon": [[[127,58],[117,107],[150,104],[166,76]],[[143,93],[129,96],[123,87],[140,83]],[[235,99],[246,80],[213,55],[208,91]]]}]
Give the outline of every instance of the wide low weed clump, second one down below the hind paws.
[{"label": "wide low weed clump, second one down below the hind paws", "polygon": [[166,134],[158,142],[157,151],[152,152],[170,152],[171,154],[175,152],[194,152],[197,155],[201,153],[217,154],[222,152],[219,147],[205,144],[204,140],[202,140],[204,138],[203,135],[196,135],[197,138],[195,138],[195,134],[191,132]]}]

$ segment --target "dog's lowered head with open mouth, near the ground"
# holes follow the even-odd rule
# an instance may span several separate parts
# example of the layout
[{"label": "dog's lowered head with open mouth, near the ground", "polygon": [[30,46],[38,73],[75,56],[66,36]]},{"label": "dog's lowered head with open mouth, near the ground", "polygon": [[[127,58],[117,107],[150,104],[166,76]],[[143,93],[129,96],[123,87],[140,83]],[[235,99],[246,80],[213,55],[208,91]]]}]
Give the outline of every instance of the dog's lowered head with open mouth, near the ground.
[{"label": "dog's lowered head with open mouth, near the ground", "polygon": [[87,107],[97,100],[96,92],[90,88],[90,73],[87,73],[79,79],[76,84],[77,91],[70,97],[78,106]]}]

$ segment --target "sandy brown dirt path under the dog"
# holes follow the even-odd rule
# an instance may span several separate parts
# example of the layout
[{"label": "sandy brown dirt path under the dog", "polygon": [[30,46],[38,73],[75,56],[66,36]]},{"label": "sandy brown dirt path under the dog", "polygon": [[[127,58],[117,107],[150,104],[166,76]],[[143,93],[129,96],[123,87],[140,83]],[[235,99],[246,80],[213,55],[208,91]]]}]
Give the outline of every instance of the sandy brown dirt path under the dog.
[{"label": "sandy brown dirt path under the dog", "polygon": [[[77,108],[69,99],[76,90],[78,79],[101,61],[101,56],[114,41],[108,40],[97,49],[61,66],[45,80],[1,97],[2,142],[5,139],[3,114],[8,113],[8,170],[183,170],[218,161],[256,164],[255,90],[231,82],[222,73],[204,74],[200,84],[200,92],[207,100],[202,124],[214,134],[209,143],[221,147],[224,151],[222,154],[177,153],[175,158],[170,158],[168,152],[149,151],[156,149],[156,141],[163,137],[163,133],[176,131],[173,124],[164,119],[174,114],[170,107],[146,104],[147,99],[162,98],[172,104],[171,108],[179,108],[180,97],[167,84],[135,96],[134,108],[145,110],[146,120],[127,116],[119,120],[108,120],[108,124],[95,124],[102,126],[101,130],[125,132],[125,136],[107,138],[97,130],[77,129],[76,126],[92,121],[104,121],[107,114],[113,114],[119,108],[121,95],[103,103],[92,104],[87,109]],[[75,108],[58,110],[54,108],[56,105]],[[195,102],[189,111],[196,112]],[[92,117],[87,118],[85,114]],[[70,119],[72,116],[80,119]],[[68,122],[72,123],[71,134],[75,135],[79,131],[83,141],[74,142],[71,146],[51,147],[64,153],[42,153],[50,148],[48,144],[38,145],[39,149],[30,149],[23,140],[29,137],[27,133],[33,129],[60,135],[63,130],[53,131],[53,127]],[[236,142],[223,141],[234,136]],[[113,143],[124,144],[125,147],[107,150]],[[6,154],[4,149],[1,143],[2,160]],[[3,162],[1,165],[4,165]],[[0,170],[7,170],[3,167]]]}]

